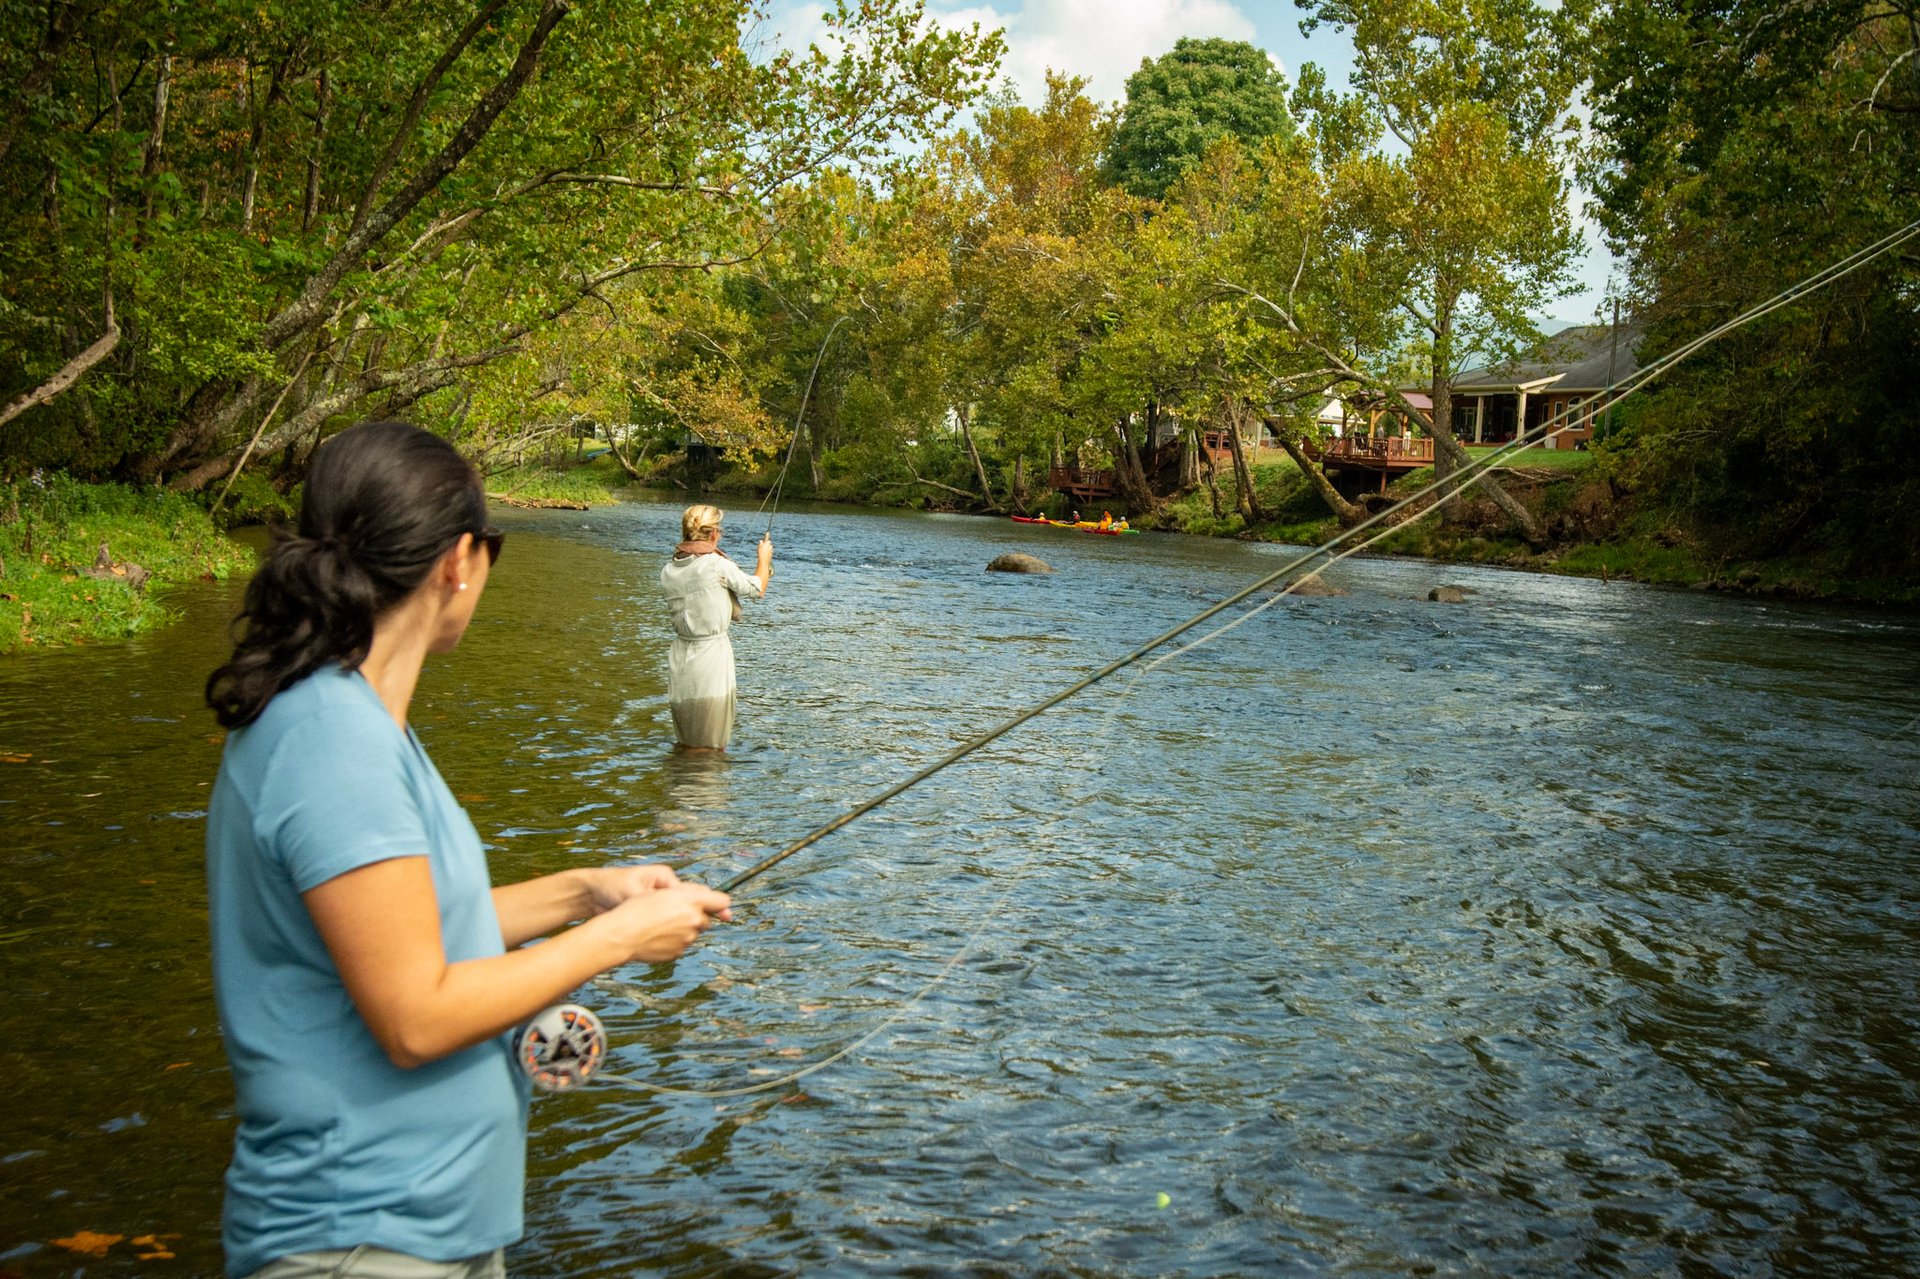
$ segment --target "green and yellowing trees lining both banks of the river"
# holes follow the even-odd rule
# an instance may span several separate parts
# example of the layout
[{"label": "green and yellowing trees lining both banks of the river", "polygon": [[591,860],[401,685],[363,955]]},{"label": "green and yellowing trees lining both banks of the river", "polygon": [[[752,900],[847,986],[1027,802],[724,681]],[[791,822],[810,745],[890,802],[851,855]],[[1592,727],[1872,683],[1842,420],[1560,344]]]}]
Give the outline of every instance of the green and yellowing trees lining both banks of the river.
[{"label": "green and yellowing trees lining both banks of the river", "polygon": [[[1119,104],[995,86],[1000,36],[914,0],[812,40],[755,0],[8,10],[0,480],[265,517],[405,415],[536,505],[756,495],[793,442],[787,495],[1058,515],[1079,471],[1315,540],[1379,505],[1311,461],[1329,401],[1471,461],[1453,380],[1536,350],[1571,175],[1642,361],[1920,215],[1899,6],[1300,10],[1346,84],[1187,38]],[[1910,597],[1914,244],[1384,545]]]}]

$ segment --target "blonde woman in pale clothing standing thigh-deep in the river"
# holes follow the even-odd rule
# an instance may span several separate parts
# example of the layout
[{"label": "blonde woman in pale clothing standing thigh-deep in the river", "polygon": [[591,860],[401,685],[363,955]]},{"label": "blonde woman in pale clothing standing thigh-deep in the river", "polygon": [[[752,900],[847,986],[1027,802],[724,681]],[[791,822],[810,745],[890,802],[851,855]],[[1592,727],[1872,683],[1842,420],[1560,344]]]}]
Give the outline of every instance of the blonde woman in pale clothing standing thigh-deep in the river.
[{"label": "blonde woman in pale clothing standing thigh-deep in the river", "polygon": [[762,599],[774,576],[774,538],[760,538],[758,567],[747,574],[720,549],[718,507],[680,515],[682,542],[660,568],[660,590],[674,618],[666,651],[666,705],[682,749],[724,751],[733,736],[733,641],[741,597]]}]

